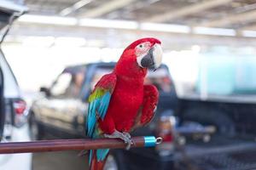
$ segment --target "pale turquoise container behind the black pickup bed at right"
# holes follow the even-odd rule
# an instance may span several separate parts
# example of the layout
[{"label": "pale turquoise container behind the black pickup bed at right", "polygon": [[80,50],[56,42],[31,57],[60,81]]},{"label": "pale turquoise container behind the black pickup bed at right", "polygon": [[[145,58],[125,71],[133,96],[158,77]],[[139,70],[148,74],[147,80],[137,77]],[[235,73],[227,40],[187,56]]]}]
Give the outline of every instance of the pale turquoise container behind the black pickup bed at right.
[{"label": "pale turquoise container behind the black pickup bed at right", "polygon": [[204,54],[195,89],[199,94],[256,94],[256,57]]}]

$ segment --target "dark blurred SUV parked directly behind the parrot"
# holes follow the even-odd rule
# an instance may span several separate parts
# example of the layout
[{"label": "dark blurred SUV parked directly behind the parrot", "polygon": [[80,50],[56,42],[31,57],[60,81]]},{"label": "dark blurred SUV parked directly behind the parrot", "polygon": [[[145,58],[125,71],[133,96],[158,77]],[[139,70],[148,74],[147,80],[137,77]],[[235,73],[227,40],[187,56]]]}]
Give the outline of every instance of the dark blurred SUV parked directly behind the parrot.
[{"label": "dark blurred SUV parked directly behind the parrot", "polygon": [[[44,95],[34,101],[31,110],[32,128],[38,132],[35,136],[42,139],[44,133],[51,133],[62,139],[84,138],[87,99],[99,78],[112,71],[114,65],[95,63],[67,67],[50,88],[41,88]],[[106,167],[141,169],[145,166],[143,163],[153,169],[158,165],[172,167],[172,126],[177,95],[166,65],[161,65],[157,71],[148,71],[145,83],[154,84],[160,91],[158,110],[149,126],[137,129],[132,135],[155,134],[163,138],[163,144],[153,149],[113,150]]]}]

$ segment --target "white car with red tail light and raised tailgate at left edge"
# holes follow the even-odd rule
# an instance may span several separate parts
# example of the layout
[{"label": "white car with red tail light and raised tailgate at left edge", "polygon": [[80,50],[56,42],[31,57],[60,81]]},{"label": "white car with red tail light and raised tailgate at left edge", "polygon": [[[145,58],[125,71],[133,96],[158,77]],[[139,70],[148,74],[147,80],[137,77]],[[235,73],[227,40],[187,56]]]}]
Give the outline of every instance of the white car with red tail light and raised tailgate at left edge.
[{"label": "white car with red tail light and raised tailgate at left edge", "polygon": [[[1,0],[0,3],[0,43],[6,35],[12,20],[24,13],[26,8]],[[1,44],[0,44],[1,45]],[[20,56],[17,56],[20,57]],[[0,139],[3,142],[30,140],[27,123],[28,108],[22,99],[20,88],[9,64],[0,48]],[[0,155],[1,170],[31,170],[32,154]]]}]

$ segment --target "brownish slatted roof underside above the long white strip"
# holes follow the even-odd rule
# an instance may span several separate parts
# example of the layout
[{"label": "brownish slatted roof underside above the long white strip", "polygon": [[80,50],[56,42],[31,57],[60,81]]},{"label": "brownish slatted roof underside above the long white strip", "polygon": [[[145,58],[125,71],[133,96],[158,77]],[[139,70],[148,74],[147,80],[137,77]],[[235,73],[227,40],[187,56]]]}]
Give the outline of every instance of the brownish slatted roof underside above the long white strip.
[{"label": "brownish slatted roof underside above the long white strip", "polygon": [[31,14],[256,28],[256,0],[25,0]]}]

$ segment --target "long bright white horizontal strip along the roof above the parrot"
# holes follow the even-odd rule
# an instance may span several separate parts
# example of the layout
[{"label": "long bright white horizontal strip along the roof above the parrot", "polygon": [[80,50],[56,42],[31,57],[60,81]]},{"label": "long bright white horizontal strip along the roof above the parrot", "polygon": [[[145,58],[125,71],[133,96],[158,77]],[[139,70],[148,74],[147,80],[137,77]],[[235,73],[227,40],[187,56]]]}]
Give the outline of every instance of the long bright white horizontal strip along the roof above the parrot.
[{"label": "long bright white horizontal strip along the roof above the parrot", "polygon": [[[17,26],[18,25],[18,26]],[[43,31],[42,31],[43,30]],[[44,31],[47,30],[47,31]],[[159,37],[163,42],[163,48],[170,49],[174,46],[179,46],[183,49],[185,46],[191,47],[198,44],[202,46],[224,45],[224,46],[253,46],[256,47],[255,38],[249,37],[218,37],[195,34],[177,34],[172,32],[160,31],[141,31],[141,30],[113,30],[111,36],[113,39],[119,40],[119,43],[114,43],[116,48],[125,47],[126,42],[134,41],[137,37]],[[10,31],[11,36],[39,36],[39,37],[84,37],[86,40],[99,39],[107,40],[109,30],[106,28],[93,28],[84,26],[49,26],[27,23],[16,23]],[[128,35],[128,36],[127,36]],[[22,39],[21,39],[22,40]],[[188,41],[189,40],[189,41]],[[12,41],[7,38],[6,41]],[[166,44],[166,45],[165,45]],[[106,46],[108,47],[108,46]]]}]

